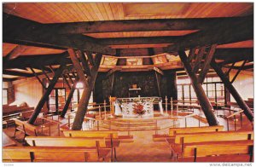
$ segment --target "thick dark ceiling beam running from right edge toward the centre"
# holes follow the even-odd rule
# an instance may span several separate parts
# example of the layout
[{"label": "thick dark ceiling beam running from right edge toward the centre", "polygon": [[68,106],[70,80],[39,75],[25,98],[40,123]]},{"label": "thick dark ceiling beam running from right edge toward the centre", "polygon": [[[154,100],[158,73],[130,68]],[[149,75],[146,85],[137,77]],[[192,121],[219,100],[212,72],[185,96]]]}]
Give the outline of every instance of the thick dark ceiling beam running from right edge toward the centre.
[{"label": "thick dark ceiling beam running from right edge toward the centre", "polygon": [[236,21],[220,21],[207,30],[181,37],[177,43],[166,47],[164,50],[167,53],[172,53],[177,52],[177,50],[212,45],[214,43],[235,43],[249,39],[253,39],[253,15],[240,17]]}]

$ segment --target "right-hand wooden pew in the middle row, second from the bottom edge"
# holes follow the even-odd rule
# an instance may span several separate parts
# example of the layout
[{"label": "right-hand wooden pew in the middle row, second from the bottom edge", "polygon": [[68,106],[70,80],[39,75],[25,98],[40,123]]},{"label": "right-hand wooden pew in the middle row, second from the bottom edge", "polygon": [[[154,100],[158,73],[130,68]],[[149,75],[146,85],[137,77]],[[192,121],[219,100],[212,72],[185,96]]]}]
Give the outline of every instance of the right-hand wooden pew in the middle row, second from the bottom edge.
[{"label": "right-hand wooden pew in the middle row, second from the bottom edge", "polygon": [[183,155],[184,145],[188,143],[200,143],[206,141],[242,141],[253,140],[253,131],[219,131],[219,132],[201,132],[194,134],[175,135],[175,139],[166,138],[170,144],[172,154],[177,157]]}]

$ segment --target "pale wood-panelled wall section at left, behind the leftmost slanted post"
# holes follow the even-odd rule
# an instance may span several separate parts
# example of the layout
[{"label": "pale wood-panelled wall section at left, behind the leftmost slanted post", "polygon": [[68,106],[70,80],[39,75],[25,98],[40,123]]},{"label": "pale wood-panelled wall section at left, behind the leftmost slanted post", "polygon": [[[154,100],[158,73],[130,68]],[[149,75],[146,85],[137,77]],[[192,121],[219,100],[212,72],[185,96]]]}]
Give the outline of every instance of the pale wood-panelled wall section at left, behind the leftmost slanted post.
[{"label": "pale wood-panelled wall section at left, behind the leftmost slanted post", "polygon": [[17,83],[15,87],[15,101],[25,101],[29,107],[36,107],[43,95],[42,85],[38,80]]}]

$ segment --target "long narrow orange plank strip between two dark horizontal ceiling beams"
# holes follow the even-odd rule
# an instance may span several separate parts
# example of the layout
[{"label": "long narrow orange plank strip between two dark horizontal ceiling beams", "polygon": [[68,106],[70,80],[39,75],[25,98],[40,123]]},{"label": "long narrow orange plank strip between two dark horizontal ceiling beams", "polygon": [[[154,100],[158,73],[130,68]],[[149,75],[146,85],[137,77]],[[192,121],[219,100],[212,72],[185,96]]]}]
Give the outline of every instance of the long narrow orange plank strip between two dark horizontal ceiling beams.
[{"label": "long narrow orange plank strip between two dark horizontal ceiling beams", "polygon": [[152,32],[101,32],[101,33],[84,33],[86,36],[96,38],[107,37],[165,37],[165,36],[184,36],[199,30],[182,30],[182,31],[152,31]]}]

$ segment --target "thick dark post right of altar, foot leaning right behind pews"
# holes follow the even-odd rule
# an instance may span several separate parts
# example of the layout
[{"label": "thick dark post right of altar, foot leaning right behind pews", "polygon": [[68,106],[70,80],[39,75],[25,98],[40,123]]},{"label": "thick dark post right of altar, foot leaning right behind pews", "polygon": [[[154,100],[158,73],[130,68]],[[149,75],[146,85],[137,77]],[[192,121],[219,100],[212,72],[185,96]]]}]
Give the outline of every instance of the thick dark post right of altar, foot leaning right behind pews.
[{"label": "thick dark post right of altar, foot leaning right behind pews", "polygon": [[186,69],[186,72],[189,75],[189,78],[191,80],[192,86],[195,90],[195,95],[197,96],[197,99],[201,105],[202,111],[205,113],[208,124],[210,126],[218,125],[217,118],[215,118],[215,115],[213,113],[212,105],[207,98],[207,95],[202,88],[201,84],[198,83],[197,77],[194,72],[192,72],[192,67],[190,66],[187,55],[184,51],[178,51],[178,55],[180,59],[183,61],[183,65]]}]

